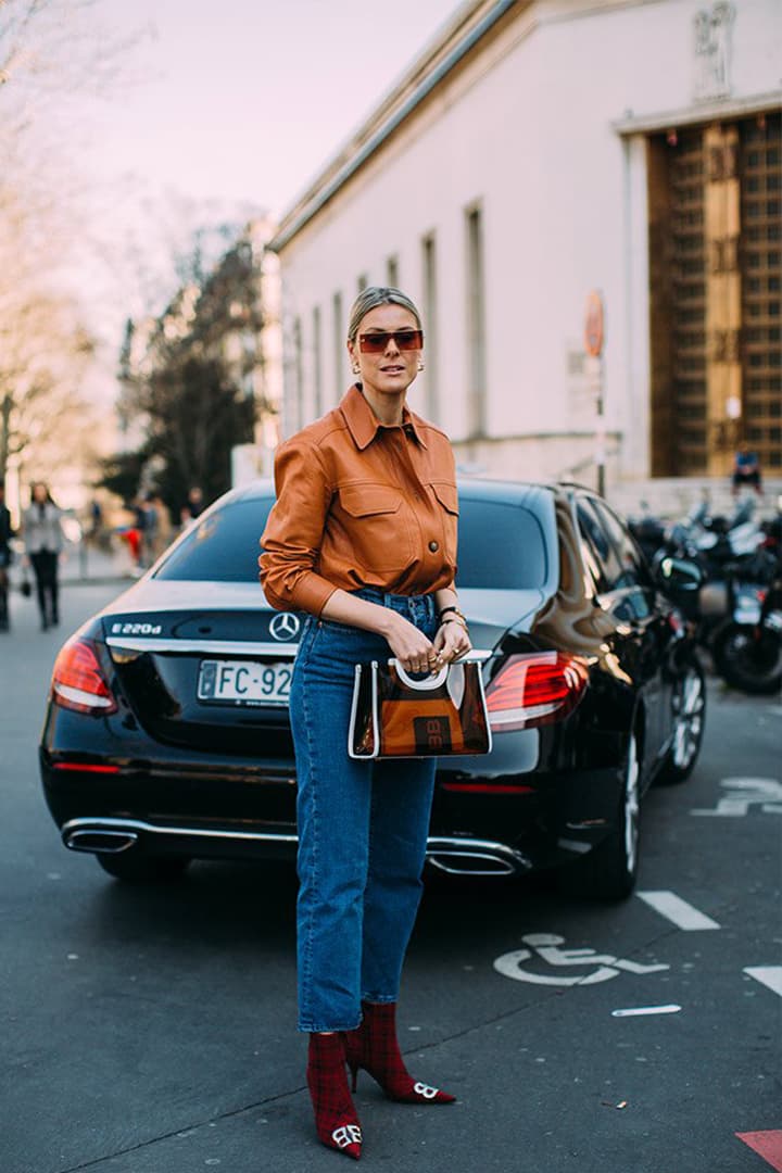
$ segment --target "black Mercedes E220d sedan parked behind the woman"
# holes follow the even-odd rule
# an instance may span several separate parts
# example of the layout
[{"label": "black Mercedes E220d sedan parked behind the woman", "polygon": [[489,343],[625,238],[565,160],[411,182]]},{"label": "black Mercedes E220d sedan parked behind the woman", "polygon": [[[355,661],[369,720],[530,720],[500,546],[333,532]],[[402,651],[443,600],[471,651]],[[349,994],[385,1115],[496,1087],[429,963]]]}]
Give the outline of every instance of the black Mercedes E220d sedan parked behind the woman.
[{"label": "black Mercedes E220d sedan parked behind the woman", "polygon": [[[302,616],[272,610],[258,583],[273,491],[225,494],[57,657],[46,801],[66,847],[113,876],[294,859],[287,697]],[[557,868],[576,893],[630,894],[644,792],[686,779],[703,734],[703,674],[676,605],[698,574],[667,560],[652,575],[579,486],[460,486],[457,585],[494,747],[441,759],[430,867]]]}]

